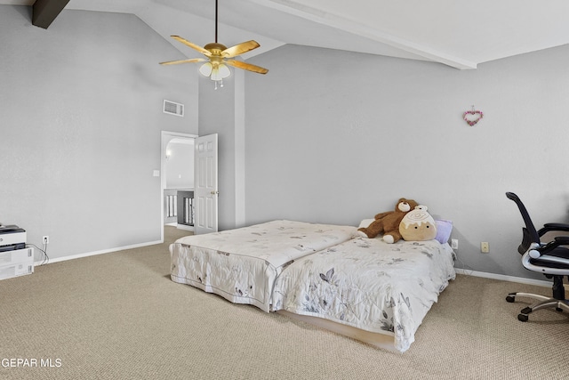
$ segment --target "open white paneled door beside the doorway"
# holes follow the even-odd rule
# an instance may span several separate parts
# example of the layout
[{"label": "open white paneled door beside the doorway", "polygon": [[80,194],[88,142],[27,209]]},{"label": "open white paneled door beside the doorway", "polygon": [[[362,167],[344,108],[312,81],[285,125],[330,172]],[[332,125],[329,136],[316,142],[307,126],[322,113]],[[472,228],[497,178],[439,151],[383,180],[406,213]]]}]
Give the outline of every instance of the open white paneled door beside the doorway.
[{"label": "open white paneled door beside the doorway", "polygon": [[196,138],[194,233],[217,231],[217,133]]}]

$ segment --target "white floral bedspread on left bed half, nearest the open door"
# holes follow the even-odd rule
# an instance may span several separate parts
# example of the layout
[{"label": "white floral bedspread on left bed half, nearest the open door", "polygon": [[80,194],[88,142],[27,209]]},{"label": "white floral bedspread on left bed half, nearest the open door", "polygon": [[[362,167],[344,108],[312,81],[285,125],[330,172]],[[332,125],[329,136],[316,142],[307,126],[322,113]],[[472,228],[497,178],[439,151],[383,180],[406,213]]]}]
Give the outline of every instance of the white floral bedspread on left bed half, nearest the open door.
[{"label": "white floral bedspread on left bed half, nearest the open door", "polygon": [[188,236],[170,247],[171,279],[268,312],[275,279],[288,263],[352,239],[356,231],[284,220]]}]

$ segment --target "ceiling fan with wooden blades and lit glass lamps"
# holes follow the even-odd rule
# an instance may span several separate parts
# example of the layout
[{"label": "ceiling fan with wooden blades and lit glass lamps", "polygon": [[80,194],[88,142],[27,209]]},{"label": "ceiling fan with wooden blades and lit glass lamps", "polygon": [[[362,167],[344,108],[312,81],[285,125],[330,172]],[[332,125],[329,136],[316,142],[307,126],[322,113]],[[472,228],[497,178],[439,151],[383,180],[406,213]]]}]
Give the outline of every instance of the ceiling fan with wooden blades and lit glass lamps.
[{"label": "ceiling fan with wooden blades and lit glass lamps", "polygon": [[211,44],[206,44],[204,47],[198,46],[189,42],[187,39],[180,36],[172,36],[175,40],[182,44],[185,44],[192,49],[195,49],[199,53],[204,54],[207,59],[204,58],[194,58],[189,60],[180,61],[167,61],[160,62],[161,65],[176,65],[179,63],[192,63],[192,62],[203,62],[206,61],[199,69],[199,72],[204,75],[204,77],[210,77],[212,80],[216,81],[215,88],[217,88],[217,82],[221,81],[221,86],[223,86],[223,78],[229,77],[231,71],[229,71],[229,66],[233,66],[237,69],[244,69],[252,71],[259,74],[267,74],[268,69],[261,68],[259,66],[252,65],[251,63],[245,63],[243,61],[230,60],[237,55],[247,53],[256,49],[260,46],[256,41],[247,41],[241,44],[236,44],[235,46],[226,47],[223,44],[218,44],[217,42],[217,0],[215,0],[215,42]]}]

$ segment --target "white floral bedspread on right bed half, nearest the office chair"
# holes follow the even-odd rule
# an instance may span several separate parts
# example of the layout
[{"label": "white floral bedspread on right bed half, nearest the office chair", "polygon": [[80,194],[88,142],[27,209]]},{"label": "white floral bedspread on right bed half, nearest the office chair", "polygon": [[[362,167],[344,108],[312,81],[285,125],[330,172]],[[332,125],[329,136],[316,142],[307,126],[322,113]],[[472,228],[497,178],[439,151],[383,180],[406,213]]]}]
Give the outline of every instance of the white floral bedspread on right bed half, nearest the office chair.
[{"label": "white floral bedspread on right bed half, nearest the office chair", "polygon": [[454,277],[448,244],[351,239],[289,265],[276,279],[271,310],[389,334],[405,352]]}]

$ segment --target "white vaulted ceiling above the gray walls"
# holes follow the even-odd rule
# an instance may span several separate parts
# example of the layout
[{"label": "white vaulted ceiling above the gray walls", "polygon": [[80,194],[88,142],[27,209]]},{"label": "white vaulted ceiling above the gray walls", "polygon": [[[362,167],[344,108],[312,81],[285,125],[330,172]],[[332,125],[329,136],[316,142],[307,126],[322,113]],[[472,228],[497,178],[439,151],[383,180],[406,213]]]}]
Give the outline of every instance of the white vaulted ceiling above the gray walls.
[{"label": "white vaulted ceiling above the gray walls", "polygon": [[[188,58],[200,54],[171,35],[202,46],[214,40],[215,0],[69,0],[65,9],[135,14]],[[260,48],[244,59],[301,44],[476,69],[569,44],[568,19],[566,0],[219,0],[218,39],[227,46],[258,41]]]}]

